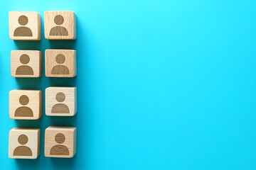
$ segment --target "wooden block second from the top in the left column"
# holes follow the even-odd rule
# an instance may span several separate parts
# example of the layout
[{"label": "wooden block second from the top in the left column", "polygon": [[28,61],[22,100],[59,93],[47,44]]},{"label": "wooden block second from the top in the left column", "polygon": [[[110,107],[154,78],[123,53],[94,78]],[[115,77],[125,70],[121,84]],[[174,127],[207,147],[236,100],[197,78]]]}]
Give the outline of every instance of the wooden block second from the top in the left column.
[{"label": "wooden block second from the top in the left column", "polygon": [[41,51],[12,50],[11,77],[41,77]]}]

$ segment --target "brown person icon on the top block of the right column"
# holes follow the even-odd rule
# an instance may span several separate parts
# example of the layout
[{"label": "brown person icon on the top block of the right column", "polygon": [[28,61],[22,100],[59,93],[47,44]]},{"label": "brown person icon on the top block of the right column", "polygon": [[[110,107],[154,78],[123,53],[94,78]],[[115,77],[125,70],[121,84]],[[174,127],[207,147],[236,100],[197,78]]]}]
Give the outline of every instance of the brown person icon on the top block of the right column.
[{"label": "brown person icon on the top block of the right column", "polygon": [[55,26],[50,29],[50,35],[53,35],[53,36],[67,36],[68,35],[68,30],[63,26],[60,26],[64,23],[63,16],[61,16],[61,15],[55,16],[54,23],[58,26]]}]

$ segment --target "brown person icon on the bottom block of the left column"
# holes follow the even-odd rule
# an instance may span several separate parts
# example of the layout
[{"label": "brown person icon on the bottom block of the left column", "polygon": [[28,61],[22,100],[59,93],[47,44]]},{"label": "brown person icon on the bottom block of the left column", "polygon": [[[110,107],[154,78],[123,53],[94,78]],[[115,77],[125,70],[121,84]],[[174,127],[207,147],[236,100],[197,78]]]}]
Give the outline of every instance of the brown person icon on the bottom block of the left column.
[{"label": "brown person icon on the bottom block of the left column", "polygon": [[23,146],[28,143],[28,137],[26,135],[18,136],[18,146],[14,149],[14,156],[32,156],[32,151],[29,147]]}]

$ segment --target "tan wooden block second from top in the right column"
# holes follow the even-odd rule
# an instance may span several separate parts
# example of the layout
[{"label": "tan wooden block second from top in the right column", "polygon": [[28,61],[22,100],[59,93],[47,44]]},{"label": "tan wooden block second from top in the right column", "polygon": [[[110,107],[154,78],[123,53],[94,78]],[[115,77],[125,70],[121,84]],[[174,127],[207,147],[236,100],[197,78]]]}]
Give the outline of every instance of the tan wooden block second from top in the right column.
[{"label": "tan wooden block second from top in the right column", "polygon": [[46,77],[75,77],[75,50],[46,50]]}]

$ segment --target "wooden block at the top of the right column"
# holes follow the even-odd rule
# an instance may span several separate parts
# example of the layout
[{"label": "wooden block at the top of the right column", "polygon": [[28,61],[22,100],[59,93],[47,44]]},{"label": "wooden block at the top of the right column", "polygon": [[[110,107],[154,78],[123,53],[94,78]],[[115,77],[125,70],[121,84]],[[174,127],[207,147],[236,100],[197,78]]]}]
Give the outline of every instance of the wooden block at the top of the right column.
[{"label": "wooden block at the top of the right column", "polygon": [[46,11],[45,37],[48,40],[75,40],[76,18],[73,11]]}]

